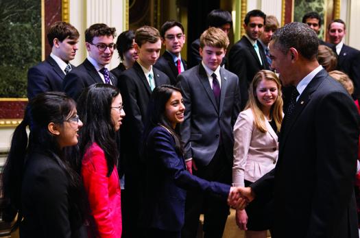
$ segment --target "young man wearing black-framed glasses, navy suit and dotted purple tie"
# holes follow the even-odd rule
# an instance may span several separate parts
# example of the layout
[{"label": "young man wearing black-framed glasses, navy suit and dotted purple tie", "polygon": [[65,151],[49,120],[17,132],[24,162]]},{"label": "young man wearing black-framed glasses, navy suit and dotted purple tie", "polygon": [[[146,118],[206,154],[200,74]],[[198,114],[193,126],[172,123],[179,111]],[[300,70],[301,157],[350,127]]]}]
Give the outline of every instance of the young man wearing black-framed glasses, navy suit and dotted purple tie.
[{"label": "young man wearing black-framed glasses, navy suit and dotted purple tie", "polygon": [[88,57],[76,69],[67,74],[62,87],[64,92],[77,100],[84,88],[96,83],[117,85],[117,78],[108,70],[115,50],[115,27],[104,23],[91,25],[85,31]]}]

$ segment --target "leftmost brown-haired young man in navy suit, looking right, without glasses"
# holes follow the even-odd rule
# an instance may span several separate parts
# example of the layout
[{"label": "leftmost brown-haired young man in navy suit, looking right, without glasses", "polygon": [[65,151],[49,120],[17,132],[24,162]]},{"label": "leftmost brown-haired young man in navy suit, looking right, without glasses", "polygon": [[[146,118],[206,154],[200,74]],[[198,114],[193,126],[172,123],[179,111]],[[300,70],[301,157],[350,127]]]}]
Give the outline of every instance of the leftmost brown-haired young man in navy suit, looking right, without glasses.
[{"label": "leftmost brown-haired young man in navy suit, looking right, without glasses", "polygon": [[69,23],[58,21],[49,27],[47,41],[51,46],[50,56],[27,71],[29,100],[38,93],[62,91],[62,80],[75,68],[69,61],[75,58],[78,39],[79,32]]}]

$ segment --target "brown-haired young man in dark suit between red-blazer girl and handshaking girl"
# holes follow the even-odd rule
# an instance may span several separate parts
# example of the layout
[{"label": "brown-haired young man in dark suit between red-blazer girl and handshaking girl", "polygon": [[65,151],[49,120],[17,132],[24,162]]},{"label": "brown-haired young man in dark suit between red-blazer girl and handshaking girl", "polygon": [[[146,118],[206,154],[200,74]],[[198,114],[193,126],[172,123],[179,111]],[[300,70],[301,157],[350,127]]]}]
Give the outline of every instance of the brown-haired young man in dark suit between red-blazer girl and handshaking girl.
[{"label": "brown-haired young man in dark suit between red-blazer girl and handshaking girl", "polygon": [[132,68],[120,74],[118,84],[126,113],[121,126],[121,160],[125,161],[125,206],[130,211],[128,217],[123,217],[124,237],[143,237],[138,224],[143,188],[140,151],[147,121],[147,104],[156,86],[170,84],[167,75],[153,67],[161,49],[158,30],[149,26],[137,29],[134,47],[139,58]]}]

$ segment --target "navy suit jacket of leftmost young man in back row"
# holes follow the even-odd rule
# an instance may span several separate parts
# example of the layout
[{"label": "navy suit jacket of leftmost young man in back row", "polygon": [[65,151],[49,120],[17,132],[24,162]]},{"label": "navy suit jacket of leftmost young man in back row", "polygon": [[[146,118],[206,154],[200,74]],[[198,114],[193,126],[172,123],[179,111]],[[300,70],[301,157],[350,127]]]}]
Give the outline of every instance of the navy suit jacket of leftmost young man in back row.
[{"label": "navy suit jacket of leftmost young man in back row", "polygon": [[[75,66],[71,65],[73,69]],[[27,71],[27,97],[32,99],[39,93],[62,92],[65,73],[51,56]]]}]

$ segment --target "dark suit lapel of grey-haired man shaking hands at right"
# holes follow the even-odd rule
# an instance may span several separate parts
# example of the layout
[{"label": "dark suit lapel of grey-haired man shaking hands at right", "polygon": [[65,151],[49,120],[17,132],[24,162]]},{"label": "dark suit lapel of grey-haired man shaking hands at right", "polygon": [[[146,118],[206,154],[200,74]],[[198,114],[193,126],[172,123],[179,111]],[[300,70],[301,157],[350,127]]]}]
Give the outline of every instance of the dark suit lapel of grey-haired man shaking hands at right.
[{"label": "dark suit lapel of grey-haired man shaking hands at right", "polygon": [[282,130],[282,132],[280,133],[280,150],[285,145],[285,141],[287,139],[287,136],[289,135],[289,132],[291,131],[291,128],[293,127],[293,124],[296,122],[302,110],[304,110],[304,108],[311,100],[311,94],[316,91],[316,89],[320,86],[325,77],[326,71],[322,69],[322,71],[315,75],[315,77],[311,80],[311,82],[307,85],[307,87],[300,95],[298,102],[296,102],[295,108],[293,109],[293,114],[289,118],[289,121],[286,121],[285,123],[285,130]]}]

